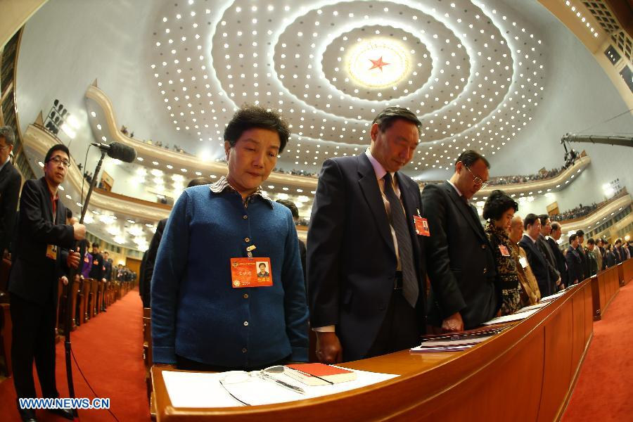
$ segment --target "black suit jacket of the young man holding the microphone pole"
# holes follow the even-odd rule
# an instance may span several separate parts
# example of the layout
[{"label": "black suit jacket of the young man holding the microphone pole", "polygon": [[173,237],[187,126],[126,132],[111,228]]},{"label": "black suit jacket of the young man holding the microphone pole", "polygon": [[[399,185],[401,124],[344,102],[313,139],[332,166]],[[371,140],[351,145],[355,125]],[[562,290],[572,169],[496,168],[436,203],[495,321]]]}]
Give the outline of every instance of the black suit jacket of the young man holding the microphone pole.
[{"label": "black suit jacket of the young man holding the microphone pole", "polygon": [[[44,177],[27,180],[20,198],[20,223],[8,290],[25,300],[44,304],[57,297],[58,278],[66,272],[68,248],[75,231],[65,225],[66,207],[57,201],[53,221],[51,193]],[[46,257],[46,245],[58,245],[57,259]]]}]

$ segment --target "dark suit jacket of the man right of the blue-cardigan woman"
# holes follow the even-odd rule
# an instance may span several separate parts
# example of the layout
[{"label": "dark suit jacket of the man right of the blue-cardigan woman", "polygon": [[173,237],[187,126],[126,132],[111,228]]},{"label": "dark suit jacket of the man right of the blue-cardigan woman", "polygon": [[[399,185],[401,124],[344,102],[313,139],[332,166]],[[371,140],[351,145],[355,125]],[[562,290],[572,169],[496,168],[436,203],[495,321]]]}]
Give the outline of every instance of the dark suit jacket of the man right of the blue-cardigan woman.
[{"label": "dark suit jacket of the man right of the blue-cardigan woman", "polygon": [[[418,326],[424,324],[423,245],[414,231],[420,189],[396,173],[419,281]],[[387,212],[367,155],[324,162],[307,239],[312,327],[336,326],[345,360],[364,357],[376,340],[392,296],[397,260]]]}]

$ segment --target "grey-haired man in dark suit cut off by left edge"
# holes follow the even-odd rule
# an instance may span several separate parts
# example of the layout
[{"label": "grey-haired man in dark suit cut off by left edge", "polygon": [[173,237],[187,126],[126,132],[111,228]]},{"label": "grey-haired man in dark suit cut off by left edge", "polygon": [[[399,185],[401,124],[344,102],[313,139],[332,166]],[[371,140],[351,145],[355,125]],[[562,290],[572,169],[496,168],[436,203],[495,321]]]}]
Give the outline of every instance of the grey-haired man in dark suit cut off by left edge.
[{"label": "grey-haired man in dark suit cut off by left edge", "polygon": [[13,237],[22,182],[20,173],[11,164],[13,139],[11,127],[0,127],[0,259]]}]

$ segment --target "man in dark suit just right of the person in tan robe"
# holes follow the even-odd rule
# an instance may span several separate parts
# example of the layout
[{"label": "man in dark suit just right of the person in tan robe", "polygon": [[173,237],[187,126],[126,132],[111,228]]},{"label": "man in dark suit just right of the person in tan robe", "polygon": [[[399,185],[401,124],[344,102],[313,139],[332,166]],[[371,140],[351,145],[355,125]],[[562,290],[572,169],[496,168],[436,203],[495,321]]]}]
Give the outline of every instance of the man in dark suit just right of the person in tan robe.
[{"label": "man in dark suit just right of the person in tan robe", "polygon": [[539,290],[541,290],[541,297],[553,295],[556,293],[555,281],[549,278],[549,268],[547,267],[547,260],[545,255],[537,245],[539,234],[541,233],[541,221],[535,214],[528,214],[523,219],[523,228],[525,234],[519,241],[521,248],[525,250],[525,255],[528,255],[528,262],[532,267],[532,272],[539,283]]}]

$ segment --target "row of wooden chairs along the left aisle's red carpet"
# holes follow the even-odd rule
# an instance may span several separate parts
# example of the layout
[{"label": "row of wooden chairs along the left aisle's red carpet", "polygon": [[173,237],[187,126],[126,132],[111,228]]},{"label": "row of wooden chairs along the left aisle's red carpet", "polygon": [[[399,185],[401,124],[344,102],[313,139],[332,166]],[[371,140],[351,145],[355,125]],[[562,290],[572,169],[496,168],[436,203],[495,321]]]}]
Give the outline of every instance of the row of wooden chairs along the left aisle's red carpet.
[{"label": "row of wooden chairs along the left aisle's red carpet", "polygon": [[[7,293],[8,273],[11,270],[11,261],[3,260],[0,267],[0,357],[4,358],[4,373],[11,376],[11,314]],[[87,324],[99,313],[104,312],[110,305],[122,298],[134,288],[133,281],[100,281],[95,279],[83,279],[77,277],[68,286],[61,281],[57,293],[56,335],[59,341],[65,333],[66,300],[70,294],[72,302],[72,314],[70,319],[70,331],[77,326]],[[0,371],[2,368],[0,366]]]}]

